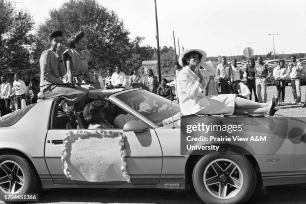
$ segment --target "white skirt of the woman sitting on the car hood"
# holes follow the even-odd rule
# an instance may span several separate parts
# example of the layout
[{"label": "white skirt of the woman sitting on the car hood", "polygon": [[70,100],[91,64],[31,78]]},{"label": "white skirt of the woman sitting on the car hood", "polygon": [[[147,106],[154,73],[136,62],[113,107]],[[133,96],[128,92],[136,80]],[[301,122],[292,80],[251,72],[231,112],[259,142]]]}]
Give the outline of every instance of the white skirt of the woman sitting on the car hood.
[{"label": "white skirt of the woman sitting on the car hood", "polygon": [[220,94],[217,96],[206,96],[205,97],[209,105],[198,111],[198,115],[206,114],[224,114],[232,115],[235,108],[235,94]]}]

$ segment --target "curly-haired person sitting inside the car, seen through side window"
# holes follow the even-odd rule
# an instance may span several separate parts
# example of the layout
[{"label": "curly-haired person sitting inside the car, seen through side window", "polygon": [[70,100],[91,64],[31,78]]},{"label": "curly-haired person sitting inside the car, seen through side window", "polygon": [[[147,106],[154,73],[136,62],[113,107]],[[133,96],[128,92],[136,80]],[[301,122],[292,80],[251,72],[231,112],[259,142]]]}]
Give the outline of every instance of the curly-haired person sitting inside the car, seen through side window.
[{"label": "curly-haired person sitting inside the car, seen through side window", "polygon": [[114,128],[105,120],[104,103],[94,100],[87,103],[83,110],[85,121],[89,124],[88,129],[110,129]]}]

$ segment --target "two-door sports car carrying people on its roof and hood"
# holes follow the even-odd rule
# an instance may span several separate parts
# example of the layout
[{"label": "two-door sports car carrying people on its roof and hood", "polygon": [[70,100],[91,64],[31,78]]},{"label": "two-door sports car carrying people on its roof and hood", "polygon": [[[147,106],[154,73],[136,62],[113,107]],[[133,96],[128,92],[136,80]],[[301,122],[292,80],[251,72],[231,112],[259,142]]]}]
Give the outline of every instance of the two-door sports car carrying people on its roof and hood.
[{"label": "two-door sports car carrying people on its roof and hood", "polygon": [[[52,188],[194,188],[204,203],[241,204],[251,197],[256,186],[306,183],[306,123],[303,118],[180,116],[178,104],[143,89],[102,90],[99,98],[104,100],[105,119],[110,124],[118,114],[129,114],[133,118],[121,129],[85,129],[61,97],[42,100],[0,118],[2,200],[7,194],[38,193]],[[135,106],[137,103],[139,106]],[[266,136],[266,142],[210,141],[201,145],[225,144],[226,151],[203,154],[197,149],[182,154],[181,143],[187,137],[182,127],[188,121],[243,123],[242,133]],[[125,166],[118,171],[126,170],[126,181],[107,180],[113,176],[110,174],[116,171],[115,167],[109,177],[106,174],[97,179],[96,167],[90,170],[95,177],[75,179],[83,178],[80,167],[90,167],[93,158],[98,160],[97,166],[107,166],[114,155],[95,157],[94,151],[101,151],[103,147],[97,142],[88,143],[90,147],[86,147],[80,138],[78,146],[70,146],[70,150],[93,151],[93,155],[64,154],[67,135],[86,133],[88,136],[101,131],[125,135],[124,150],[121,149],[124,155],[121,162]],[[77,177],[68,177],[66,163],[63,163],[67,156],[74,157],[76,163],[78,159],[87,161],[75,168],[79,173]],[[127,174],[124,176],[127,178]]]}]

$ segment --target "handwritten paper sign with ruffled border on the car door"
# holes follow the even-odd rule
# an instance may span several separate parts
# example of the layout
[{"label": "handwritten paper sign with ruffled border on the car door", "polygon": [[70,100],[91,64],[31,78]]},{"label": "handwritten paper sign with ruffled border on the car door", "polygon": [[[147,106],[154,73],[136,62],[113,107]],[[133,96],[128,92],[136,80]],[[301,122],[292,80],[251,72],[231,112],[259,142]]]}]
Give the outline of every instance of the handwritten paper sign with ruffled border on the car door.
[{"label": "handwritten paper sign with ruffled border on the car door", "polygon": [[74,181],[127,181],[125,135],[122,132],[69,131],[63,140],[63,172]]}]

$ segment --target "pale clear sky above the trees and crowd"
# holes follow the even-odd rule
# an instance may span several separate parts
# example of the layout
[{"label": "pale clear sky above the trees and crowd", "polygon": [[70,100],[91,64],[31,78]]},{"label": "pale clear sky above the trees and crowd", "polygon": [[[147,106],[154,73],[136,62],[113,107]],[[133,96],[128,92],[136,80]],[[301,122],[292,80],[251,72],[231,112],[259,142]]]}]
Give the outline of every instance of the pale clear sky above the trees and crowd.
[{"label": "pale clear sky above the trees and crowd", "polygon": [[[14,0],[17,9],[29,11],[42,23],[48,10],[65,0]],[[130,31],[129,37],[142,36],[142,45],[156,47],[154,0],[97,0],[114,10]],[[159,46],[174,46],[179,39],[180,53],[197,48],[207,56],[242,55],[250,46],[254,54],[306,53],[306,0],[156,0]],[[239,51],[239,52],[238,52]]]}]

